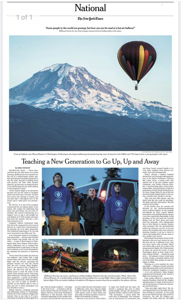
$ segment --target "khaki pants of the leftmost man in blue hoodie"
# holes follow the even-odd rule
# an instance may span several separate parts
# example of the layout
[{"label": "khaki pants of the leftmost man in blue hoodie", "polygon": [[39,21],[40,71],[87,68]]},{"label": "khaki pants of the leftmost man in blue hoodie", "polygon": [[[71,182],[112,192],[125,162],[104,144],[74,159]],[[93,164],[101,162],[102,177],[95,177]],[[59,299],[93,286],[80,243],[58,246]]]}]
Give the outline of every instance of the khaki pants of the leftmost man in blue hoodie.
[{"label": "khaki pants of the leftmost man in blue hoodie", "polygon": [[57,235],[59,229],[60,235],[69,235],[69,216],[55,216],[49,217],[50,235]]}]

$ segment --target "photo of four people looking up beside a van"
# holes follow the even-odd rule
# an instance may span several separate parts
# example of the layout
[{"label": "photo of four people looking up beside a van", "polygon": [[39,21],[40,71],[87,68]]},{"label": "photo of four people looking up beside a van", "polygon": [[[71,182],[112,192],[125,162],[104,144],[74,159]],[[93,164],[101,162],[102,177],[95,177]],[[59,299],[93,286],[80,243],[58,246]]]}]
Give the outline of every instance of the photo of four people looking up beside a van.
[{"label": "photo of four people looking up beside a van", "polygon": [[42,235],[138,235],[138,168],[42,168]]}]

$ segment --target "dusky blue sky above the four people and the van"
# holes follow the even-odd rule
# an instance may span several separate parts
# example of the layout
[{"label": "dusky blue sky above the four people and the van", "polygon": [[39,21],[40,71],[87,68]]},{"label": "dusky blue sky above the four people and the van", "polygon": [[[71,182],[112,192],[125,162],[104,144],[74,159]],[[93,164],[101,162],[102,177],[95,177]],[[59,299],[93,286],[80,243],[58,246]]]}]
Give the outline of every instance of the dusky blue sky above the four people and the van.
[{"label": "dusky blue sky above the four people and the van", "polygon": [[[53,185],[53,176],[56,172],[60,172],[63,176],[62,184],[66,184],[70,181],[74,182],[74,185],[82,185],[88,183],[92,176],[96,176],[97,179],[106,176],[105,168],[42,168],[42,180],[45,181],[45,188]],[[138,168],[122,168],[121,178],[129,178],[138,180]]]}]

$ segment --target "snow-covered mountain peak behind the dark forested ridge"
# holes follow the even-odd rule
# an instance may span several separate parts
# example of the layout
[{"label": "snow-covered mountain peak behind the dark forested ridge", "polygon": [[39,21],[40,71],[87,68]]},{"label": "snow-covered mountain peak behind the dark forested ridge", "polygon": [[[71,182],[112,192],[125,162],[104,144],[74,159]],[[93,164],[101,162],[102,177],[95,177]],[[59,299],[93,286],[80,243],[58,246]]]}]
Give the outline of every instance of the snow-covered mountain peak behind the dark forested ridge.
[{"label": "snow-covered mountain peak behind the dark forested ridge", "polygon": [[25,103],[62,112],[96,111],[130,118],[171,121],[171,107],[145,102],[91,75],[83,67],[54,64],[9,90],[10,105]]}]

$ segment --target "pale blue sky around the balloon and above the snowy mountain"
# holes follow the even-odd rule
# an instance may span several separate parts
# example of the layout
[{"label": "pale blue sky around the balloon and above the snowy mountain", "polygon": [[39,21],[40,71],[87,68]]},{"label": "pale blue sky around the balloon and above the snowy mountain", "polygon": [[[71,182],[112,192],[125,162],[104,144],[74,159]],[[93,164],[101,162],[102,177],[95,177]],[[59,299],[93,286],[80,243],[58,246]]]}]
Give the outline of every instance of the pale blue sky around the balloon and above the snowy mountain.
[{"label": "pale blue sky around the balloon and above the snowy mountain", "polygon": [[[134,40],[150,43],[157,53],[156,63],[140,81],[138,91],[136,81],[122,70],[117,59],[119,48]],[[66,62],[85,67],[133,98],[171,106],[171,46],[171,36],[10,36],[9,86],[22,83],[52,64]]]}]

